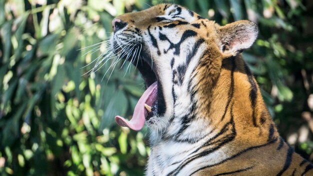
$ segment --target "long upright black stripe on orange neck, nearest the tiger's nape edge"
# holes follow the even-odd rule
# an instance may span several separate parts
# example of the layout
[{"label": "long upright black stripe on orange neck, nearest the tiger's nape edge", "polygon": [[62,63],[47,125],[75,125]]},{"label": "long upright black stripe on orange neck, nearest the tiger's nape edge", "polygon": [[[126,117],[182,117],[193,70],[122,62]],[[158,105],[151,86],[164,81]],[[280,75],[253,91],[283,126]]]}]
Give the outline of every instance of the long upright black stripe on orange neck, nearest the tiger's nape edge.
[{"label": "long upright black stripe on orange neck, nearest the tiger's nape edge", "polygon": [[246,63],[244,63],[244,69],[245,69],[245,73],[248,77],[248,81],[250,83],[250,92],[249,92],[249,97],[250,97],[250,101],[251,101],[251,107],[252,107],[252,122],[254,126],[257,126],[256,124],[256,117],[255,117],[255,104],[256,104],[256,98],[257,98],[257,85],[253,79],[253,75],[249,69],[249,67],[247,66]]}]

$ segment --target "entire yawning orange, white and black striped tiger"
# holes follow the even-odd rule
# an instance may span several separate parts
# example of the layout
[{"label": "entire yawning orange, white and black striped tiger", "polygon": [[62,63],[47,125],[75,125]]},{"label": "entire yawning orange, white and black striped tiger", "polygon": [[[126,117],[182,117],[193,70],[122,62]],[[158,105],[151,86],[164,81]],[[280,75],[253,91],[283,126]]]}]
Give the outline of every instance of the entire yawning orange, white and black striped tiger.
[{"label": "entire yawning orange, white and black striped tiger", "polygon": [[176,4],[117,16],[112,49],[141,72],[146,90],[131,120],[150,128],[146,175],[313,175],[278,134],[241,56],[258,28],[224,26]]}]

